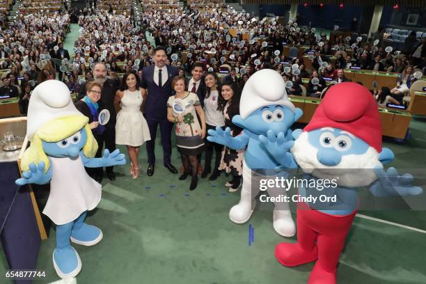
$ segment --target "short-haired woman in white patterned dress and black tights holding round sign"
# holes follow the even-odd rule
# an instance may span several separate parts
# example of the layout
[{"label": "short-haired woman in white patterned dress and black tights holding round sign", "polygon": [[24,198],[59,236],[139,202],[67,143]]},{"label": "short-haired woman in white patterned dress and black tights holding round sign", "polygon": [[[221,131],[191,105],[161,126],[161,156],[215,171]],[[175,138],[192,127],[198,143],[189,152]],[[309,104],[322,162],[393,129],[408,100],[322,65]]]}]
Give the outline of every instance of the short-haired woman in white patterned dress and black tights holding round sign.
[{"label": "short-haired woman in white patterned dress and black tights holding round sign", "polygon": [[[184,173],[179,180],[184,180],[191,174],[190,190],[194,190],[198,183],[198,159],[204,150],[205,116],[200,100],[195,93],[185,90],[185,78],[176,76],[171,82],[176,94],[167,101],[167,119],[176,123],[176,144],[182,157]],[[201,125],[198,123],[197,114]],[[191,173],[189,172],[191,168]]]}]

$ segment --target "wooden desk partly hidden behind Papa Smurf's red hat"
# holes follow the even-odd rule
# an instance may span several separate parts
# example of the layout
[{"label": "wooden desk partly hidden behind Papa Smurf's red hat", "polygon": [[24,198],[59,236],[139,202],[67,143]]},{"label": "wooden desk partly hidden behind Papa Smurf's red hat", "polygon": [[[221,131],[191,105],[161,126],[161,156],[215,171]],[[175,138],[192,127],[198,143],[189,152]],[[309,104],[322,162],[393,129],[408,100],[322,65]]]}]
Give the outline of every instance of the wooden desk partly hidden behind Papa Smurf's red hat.
[{"label": "wooden desk partly hidden behind Papa Smurf's red hat", "polygon": [[[298,123],[309,123],[315,110],[321,102],[314,97],[289,96],[294,107],[303,111],[303,116],[297,120]],[[410,125],[411,114],[408,111],[397,111],[393,109],[379,108],[381,119],[381,134],[394,138],[404,139]]]}]

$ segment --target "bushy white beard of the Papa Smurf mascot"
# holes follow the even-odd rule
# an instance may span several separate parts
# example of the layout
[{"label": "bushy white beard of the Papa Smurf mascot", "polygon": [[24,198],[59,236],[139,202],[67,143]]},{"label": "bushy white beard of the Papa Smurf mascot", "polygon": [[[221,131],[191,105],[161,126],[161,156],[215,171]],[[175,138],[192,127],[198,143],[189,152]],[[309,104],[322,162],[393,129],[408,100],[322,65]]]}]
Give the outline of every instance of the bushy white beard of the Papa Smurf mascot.
[{"label": "bushy white beard of the Papa Smurf mascot", "polygon": [[308,141],[308,132],[302,132],[294,141],[291,152],[303,172],[310,173],[315,178],[336,179],[336,183],[342,187],[368,186],[377,180],[374,168],[383,168],[379,153],[372,147],[361,155],[342,155],[337,166],[321,164],[317,159],[318,149]]}]

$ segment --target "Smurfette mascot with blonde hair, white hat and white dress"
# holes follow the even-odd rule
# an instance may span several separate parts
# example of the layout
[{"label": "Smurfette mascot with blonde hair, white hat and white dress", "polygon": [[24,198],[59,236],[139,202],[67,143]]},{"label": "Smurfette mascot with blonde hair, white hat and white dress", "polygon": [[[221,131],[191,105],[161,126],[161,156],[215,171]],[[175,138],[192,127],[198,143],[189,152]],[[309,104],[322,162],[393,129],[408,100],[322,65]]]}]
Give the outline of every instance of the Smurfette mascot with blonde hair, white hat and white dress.
[{"label": "Smurfette mascot with blonde hair, white hat and white dress", "polygon": [[31,145],[24,152],[19,185],[46,184],[50,194],[43,213],[56,224],[54,268],[61,278],[77,276],[81,270],[79,254],[70,246],[93,246],[102,239],[102,231],[84,223],[88,210],[101,199],[101,184],[89,177],[84,167],[125,164],[119,150],[104,150],[94,159],[97,142],[88,118],[74,107],[70,90],[61,81],[48,80],[31,95],[26,136]]}]

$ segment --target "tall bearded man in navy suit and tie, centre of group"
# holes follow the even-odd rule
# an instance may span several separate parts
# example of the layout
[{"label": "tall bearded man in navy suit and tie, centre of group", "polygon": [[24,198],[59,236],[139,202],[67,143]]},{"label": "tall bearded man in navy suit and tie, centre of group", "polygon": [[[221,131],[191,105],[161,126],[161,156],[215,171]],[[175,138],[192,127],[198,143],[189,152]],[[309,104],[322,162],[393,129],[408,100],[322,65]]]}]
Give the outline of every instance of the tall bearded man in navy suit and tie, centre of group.
[{"label": "tall bearded man in navy suit and tie, centre of group", "polygon": [[171,173],[178,173],[178,170],[171,164],[171,131],[173,124],[167,120],[167,100],[172,94],[171,81],[178,76],[178,68],[166,65],[166,49],[157,46],[154,49],[155,65],[146,66],[142,70],[142,92],[148,92],[145,104],[146,122],[150,129],[151,140],[146,143],[148,152],[149,176],[154,174],[155,166],[155,137],[157,127],[161,131],[161,143],[163,144],[164,166]]}]

